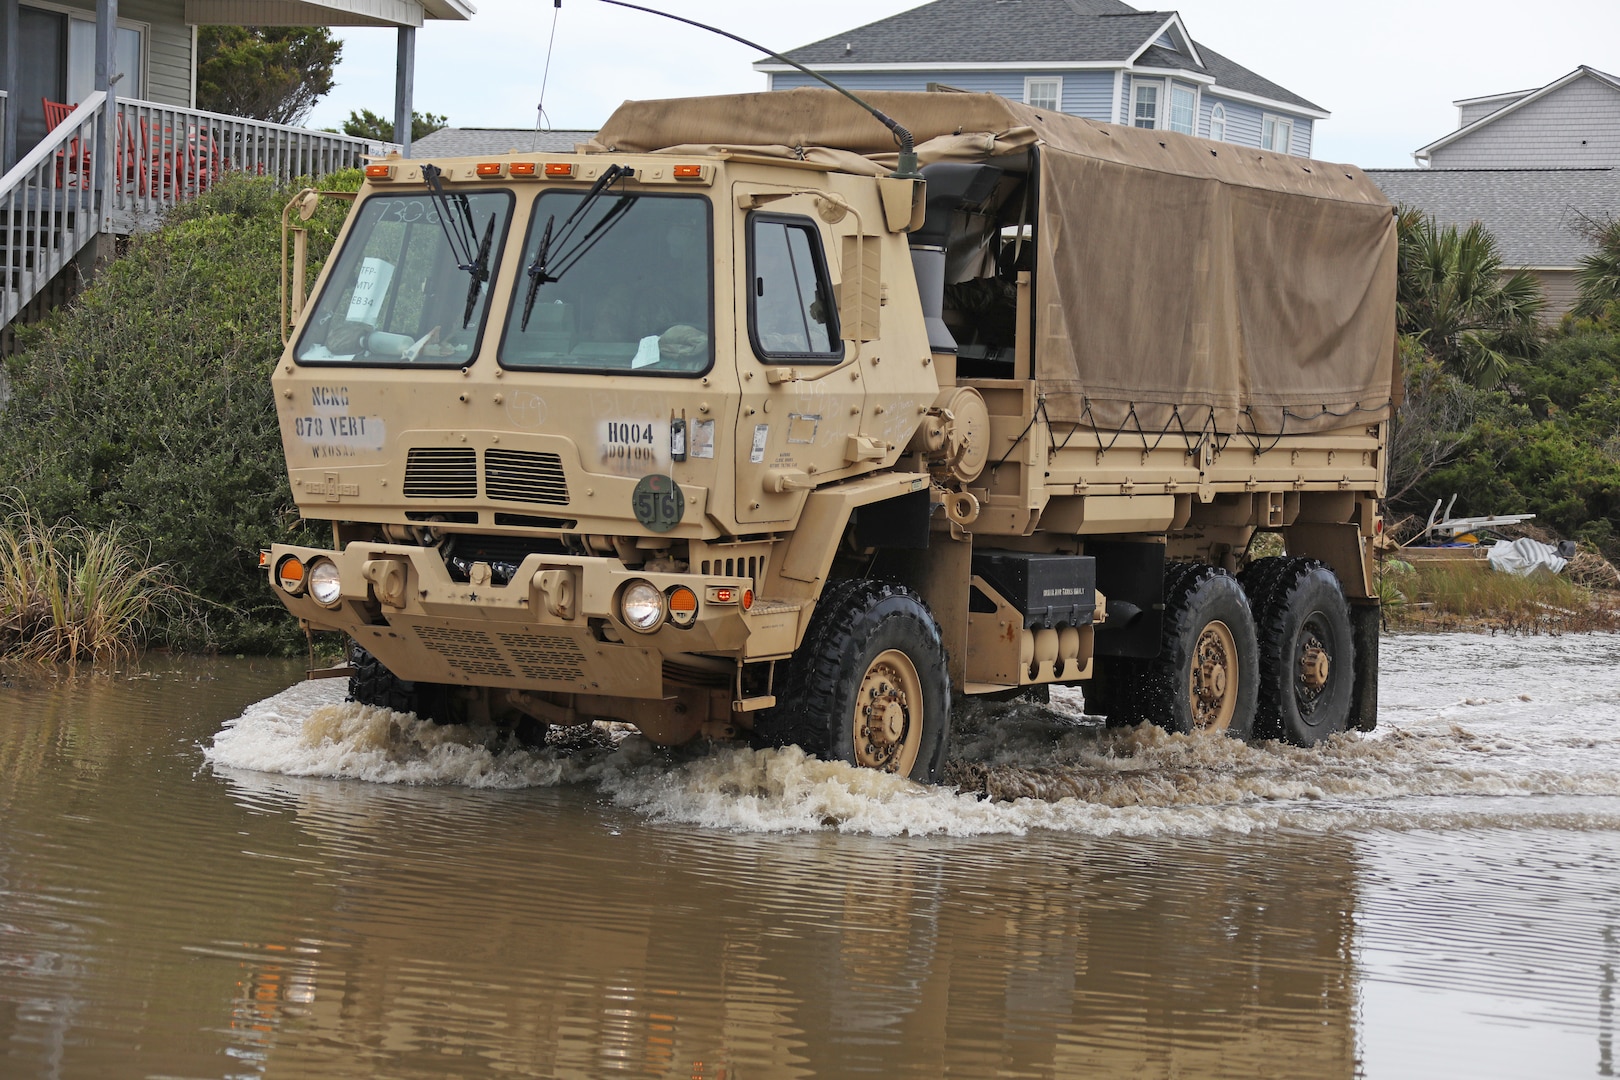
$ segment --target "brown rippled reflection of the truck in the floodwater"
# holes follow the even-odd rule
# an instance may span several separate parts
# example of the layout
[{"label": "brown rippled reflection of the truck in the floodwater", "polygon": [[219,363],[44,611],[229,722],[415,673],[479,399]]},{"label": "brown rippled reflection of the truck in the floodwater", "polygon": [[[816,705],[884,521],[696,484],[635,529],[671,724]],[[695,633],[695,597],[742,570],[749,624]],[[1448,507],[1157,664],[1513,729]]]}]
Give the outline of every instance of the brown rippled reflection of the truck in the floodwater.
[{"label": "brown rippled reflection of the truck in the floodwater", "polygon": [[578,790],[228,779],[355,942],[282,1067],[1354,1075],[1345,837],[739,836]]}]

